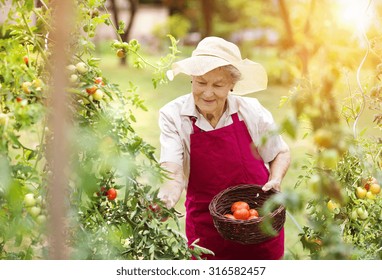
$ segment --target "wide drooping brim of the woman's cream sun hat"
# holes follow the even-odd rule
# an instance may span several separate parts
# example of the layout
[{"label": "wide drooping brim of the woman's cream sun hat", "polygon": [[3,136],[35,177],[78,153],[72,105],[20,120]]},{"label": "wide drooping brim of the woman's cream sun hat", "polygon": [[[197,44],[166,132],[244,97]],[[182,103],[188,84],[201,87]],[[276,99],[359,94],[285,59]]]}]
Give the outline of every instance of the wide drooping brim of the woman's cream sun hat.
[{"label": "wide drooping brim of the woman's cream sun hat", "polygon": [[245,95],[267,88],[268,76],[264,67],[249,59],[227,61],[216,56],[192,56],[175,62],[172,65],[172,70],[167,72],[167,77],[169,80],[173,80],[174,76],[180,73],[190,76],[202,76],[225,65],[233,65],[241,73],[241,79],[235,84],[232,94]]}]

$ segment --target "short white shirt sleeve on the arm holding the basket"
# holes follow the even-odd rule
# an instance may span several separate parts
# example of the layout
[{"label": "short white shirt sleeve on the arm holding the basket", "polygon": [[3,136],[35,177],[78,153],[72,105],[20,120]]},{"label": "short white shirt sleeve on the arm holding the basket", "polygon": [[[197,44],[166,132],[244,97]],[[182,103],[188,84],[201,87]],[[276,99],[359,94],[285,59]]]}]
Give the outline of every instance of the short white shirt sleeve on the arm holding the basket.
[{"label": "short white shirt sleeve on the arm holding the basket", "polygon": [[[249,101],[251,112],[248,114],[250,120],[249,131],[258,153],[265,163],[269,163],[283,151],[288,151],[289,147],[279,134],[271,112],[264,108],[257,99]],[[248,117],[247,117],[248,118]]]}]

